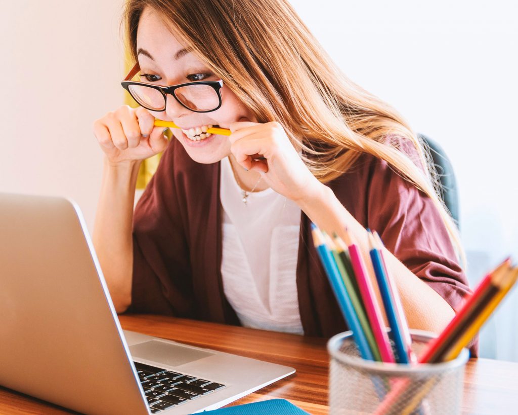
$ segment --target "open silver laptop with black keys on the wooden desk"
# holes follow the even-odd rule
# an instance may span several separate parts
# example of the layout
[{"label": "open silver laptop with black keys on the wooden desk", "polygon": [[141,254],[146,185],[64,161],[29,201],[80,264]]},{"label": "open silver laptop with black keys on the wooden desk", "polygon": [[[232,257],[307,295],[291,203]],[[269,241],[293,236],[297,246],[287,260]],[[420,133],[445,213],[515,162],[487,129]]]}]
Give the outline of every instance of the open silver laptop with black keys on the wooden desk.
[{"label": "open silver laptop with black keys on the wooden desk", "polygon": [[0,193],[0,385],[82,413],[189,414],[291,367],[121,329],[77,204]]}]

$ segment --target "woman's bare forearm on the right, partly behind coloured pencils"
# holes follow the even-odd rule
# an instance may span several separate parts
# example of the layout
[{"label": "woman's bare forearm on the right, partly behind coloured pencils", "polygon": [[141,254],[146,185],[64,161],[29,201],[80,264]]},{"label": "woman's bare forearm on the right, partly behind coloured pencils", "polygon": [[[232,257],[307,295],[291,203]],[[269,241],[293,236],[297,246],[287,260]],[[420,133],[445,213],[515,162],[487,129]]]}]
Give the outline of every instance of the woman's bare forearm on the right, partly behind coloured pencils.
[{"label": "woman's bare forearm on the right, partly behind coloured pencils", "polygon": [[[315,186],[311,196],[297,203],[312,222],[329,234],[336,232],[343,238],[344,229],[347,227],[355,243],[364,253],[365,259],[369,258],[366,229],[347,211],[330,188],[324,185]],[[439,333],[453,318],[453,309],[433,288],[414,275],[386,248],[384,256],[398,287],[409,326]]]}]

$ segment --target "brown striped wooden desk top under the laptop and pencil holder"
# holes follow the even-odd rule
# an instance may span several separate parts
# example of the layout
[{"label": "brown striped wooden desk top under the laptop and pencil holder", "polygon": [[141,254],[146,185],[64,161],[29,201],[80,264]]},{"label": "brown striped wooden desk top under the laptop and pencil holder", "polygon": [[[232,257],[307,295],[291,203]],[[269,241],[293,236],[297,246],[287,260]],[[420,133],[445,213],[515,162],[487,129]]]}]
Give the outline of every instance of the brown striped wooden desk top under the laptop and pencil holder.
[{"label": "brown striped wooden desk top under the laptop and pencil holder", "polygon": [[[297,369],[296,374],[243,397],[235,404],[285,398],[315,415],[328,412],[325,339],[154,315],[122,315],[120,321],[127,330]],[[464,384],[463,413],[518,413],[518,364],[488,359],[470,361]],[[69,412],[0,388],[0,413]]]}]

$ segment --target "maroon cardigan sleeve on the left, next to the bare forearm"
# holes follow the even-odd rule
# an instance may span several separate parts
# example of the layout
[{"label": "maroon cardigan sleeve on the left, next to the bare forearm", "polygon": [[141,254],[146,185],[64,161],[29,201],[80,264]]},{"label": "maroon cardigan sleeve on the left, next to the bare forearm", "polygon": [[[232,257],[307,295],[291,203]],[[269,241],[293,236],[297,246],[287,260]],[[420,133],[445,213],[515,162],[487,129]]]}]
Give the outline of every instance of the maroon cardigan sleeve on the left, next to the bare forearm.
[{"label": "maroon cardigan sleeve on the left, next to the bare forearm", "polygon": [[174,152],[166,149],[133,219],[132,303],[128,311],[189,317],[194,299]]}]

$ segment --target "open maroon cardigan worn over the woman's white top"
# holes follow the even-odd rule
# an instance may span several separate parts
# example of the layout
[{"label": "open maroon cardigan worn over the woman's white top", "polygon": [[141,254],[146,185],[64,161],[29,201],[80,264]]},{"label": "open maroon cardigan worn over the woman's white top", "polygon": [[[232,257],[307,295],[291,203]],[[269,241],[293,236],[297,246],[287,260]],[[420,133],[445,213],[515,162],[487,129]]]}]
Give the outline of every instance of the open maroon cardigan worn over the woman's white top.
[{"label": "open maroon cardigan worn over the woman's white top", "polygon": [[[130,311],[239,325],[221,278],[219,180],[219,162],[199,164],[173,139],[135,209]],[[410,271],[454,309],[459,306],[470,292],[466,276],[424,193],[370,155],[327,185],[359,223],[380,233]],[[330,337],[346,330],[304,213],[296,281],[305,335]]]}]

